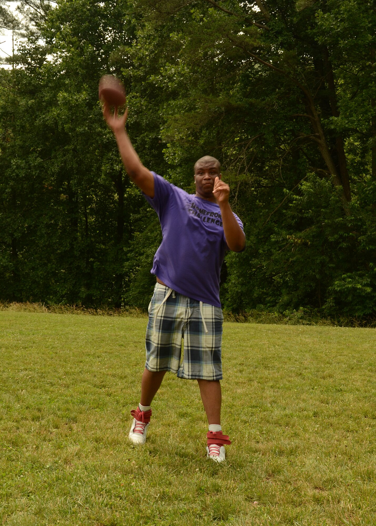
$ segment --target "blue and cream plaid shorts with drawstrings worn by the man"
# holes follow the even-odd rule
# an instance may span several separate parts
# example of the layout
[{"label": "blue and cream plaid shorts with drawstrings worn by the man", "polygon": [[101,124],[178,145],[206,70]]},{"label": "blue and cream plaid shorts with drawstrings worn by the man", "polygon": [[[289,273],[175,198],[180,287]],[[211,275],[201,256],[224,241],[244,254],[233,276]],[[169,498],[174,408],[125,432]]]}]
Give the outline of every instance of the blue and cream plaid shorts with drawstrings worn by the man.
[{"label": "blue and cream plaid shorts with drawstrings worn by the man", "polygon": [[220,307],[157,283],[149,305],[146,369],[172,371],[179,378],[221,380],[222,323]]}]

